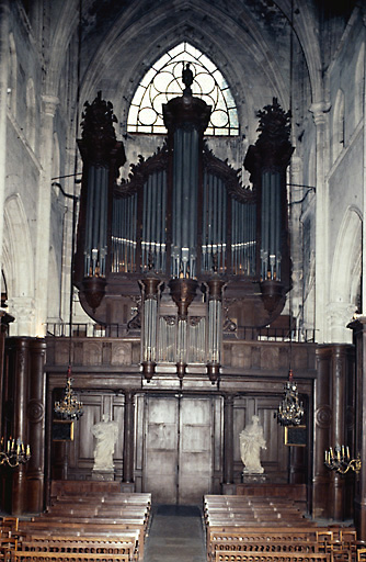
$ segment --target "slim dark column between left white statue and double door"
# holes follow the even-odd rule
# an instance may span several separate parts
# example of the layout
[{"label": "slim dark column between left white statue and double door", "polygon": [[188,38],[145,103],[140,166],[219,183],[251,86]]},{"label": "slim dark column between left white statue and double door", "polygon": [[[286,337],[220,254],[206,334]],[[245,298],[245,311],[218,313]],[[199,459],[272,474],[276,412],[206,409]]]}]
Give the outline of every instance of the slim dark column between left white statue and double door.
[{"label": "slim dark column between left white statue and double door", "polygon": [[134,427],[135,427],[135,393],[125,393],[124,443],[123,443],[123,492],[134,492]]}]

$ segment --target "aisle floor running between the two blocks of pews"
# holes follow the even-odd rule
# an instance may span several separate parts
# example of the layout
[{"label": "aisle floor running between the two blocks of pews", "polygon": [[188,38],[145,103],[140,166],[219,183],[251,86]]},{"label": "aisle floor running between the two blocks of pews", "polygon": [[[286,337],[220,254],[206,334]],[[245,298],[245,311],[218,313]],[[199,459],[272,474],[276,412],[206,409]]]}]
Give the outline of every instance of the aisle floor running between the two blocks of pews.
[{"label": "aisle floor running between the two blocks of pews", "polygon": [[199,507],[152,506],[144,562],[206,562]]}]

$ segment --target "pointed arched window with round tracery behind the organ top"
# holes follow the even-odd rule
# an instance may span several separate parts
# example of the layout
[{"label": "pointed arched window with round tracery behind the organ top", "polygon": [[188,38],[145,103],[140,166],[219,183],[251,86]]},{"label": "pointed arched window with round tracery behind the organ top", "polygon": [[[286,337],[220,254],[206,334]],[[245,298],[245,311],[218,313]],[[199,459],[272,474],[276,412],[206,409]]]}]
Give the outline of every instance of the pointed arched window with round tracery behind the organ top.
[{"label": "pointed arched window with round tracery behind the organ top", "polygon": [[184,42],[169,50],[146,72],[133,98],[127,117],[129,133],[165,134],[162,104],[182,95],[183,63],[190,63],[194,75],[193,95],[211,106],[206,135],[239,134],[237,105],[229,85],[214,63],[197,48]]}]

